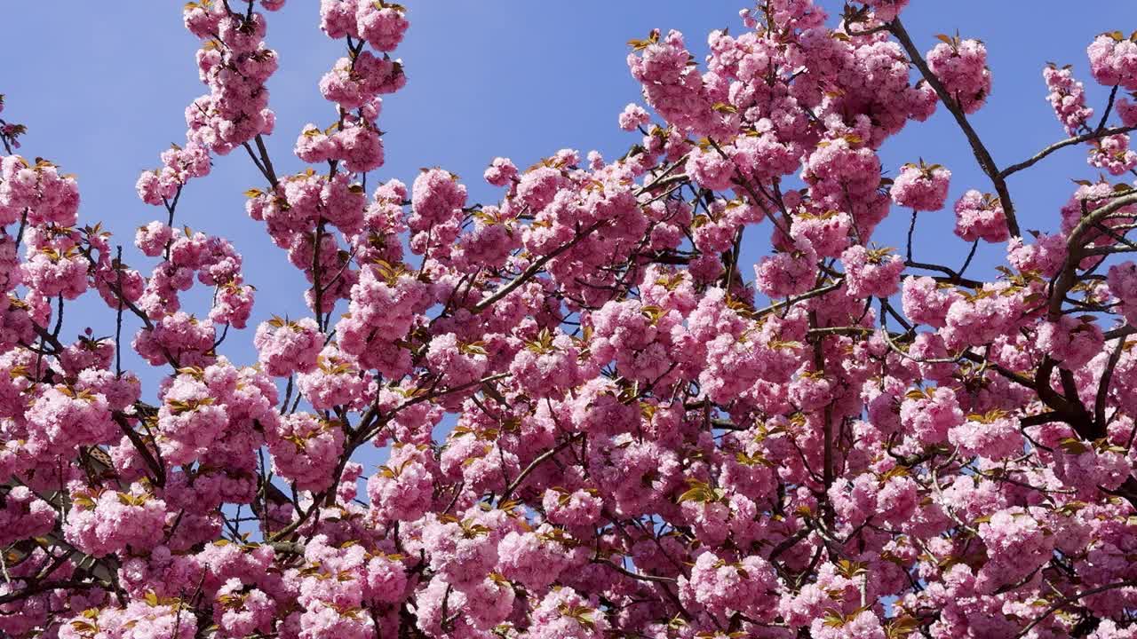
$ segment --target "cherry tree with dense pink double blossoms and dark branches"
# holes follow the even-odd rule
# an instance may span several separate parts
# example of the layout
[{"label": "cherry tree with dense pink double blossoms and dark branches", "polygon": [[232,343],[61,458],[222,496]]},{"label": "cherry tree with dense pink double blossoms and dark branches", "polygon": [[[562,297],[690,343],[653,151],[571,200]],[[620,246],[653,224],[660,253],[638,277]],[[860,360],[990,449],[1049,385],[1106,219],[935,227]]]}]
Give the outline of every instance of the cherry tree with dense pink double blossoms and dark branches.
[{"label": "cherry tree with dense pink double blossoms and dark branches", "polygon": [[[705,60],[653,31],[623,157],[497,158],[476,205],[442,168],[375,184],[407,8],[322,0],[332,109],[275,132],[284,1],[189,2],[207,92],[138,180],[138,252],[0,121],[0,636],[1137,637],[1137,34],[1087,35],[1105,105],[1043,68],[1057,141],[1003,166],[986,47],[922,51],[906,3],[769,0]],[[937,108],[986,175],[955,202],[877,153]],[[1079,149],[1111,177],[1024,235],[1009,177]],[[248,326],[238,247],[180,229],[243,161],[306,317]],[[918,262],[953,209],[957,259]],[[116,334],[72,339],[92,292]]]}]

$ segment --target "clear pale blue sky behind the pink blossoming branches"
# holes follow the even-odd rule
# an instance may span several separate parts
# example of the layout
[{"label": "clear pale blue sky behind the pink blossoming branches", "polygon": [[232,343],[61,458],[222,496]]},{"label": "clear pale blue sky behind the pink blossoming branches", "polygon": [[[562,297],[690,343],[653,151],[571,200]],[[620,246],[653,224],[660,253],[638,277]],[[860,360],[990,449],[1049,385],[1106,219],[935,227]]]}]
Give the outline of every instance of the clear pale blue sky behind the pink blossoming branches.
[{"label": "clear pale blue sky behind the pink blossoming branches", "polygon": [[[624,63],[625,41],[653,27],[678,28],[702,60],[706,33],[727,26],[738,33],[737,11],[745,6],[720,0],[406,5],[412,26],[397,56],[409,82],[384,103],[380,126],[388,132],[388,164],[370,183],[390,177],[409,183],[418,167],[438,165],[460,175],[482,201],[497,196],[480,177],[495,156],[528,166],[564,147],[621,155],[638,136],[619,131],[616,115],[640,98]],[[823,6],[839,10],[840,3]],[[109,225],[127,244],[127,263],[143,272],[151,264],[130,247],[134,229],[164,213],[139,201],[134,182],[158,164],[158,153],[171,142],[183,142],[183,110],[205,92],[193,63],[198,41],[182,27],[181,7],[180,0],[11,0],[3,7],[9,55],[0,93],[8,96],[3,117],[28,125],[22,152],[78,174],[81,219]],[[1005,166],[1063,135],[1044,99],[1045,61],[1073,64],[1093,84],[1086,45],[1103,31],[1137,28],[1137,9],[1130,0],[913,0],[904,20],[923,50],[935,43],[935,34],[955,30],[988,44],[994,92],[973,122]],[[290,0],[269,15],[267,42],[281,59],[281,70],[269,82],[277,130],[268,146],[279,172],[300,168],[291,148],[305,123],[332,121],[316,83],[342,55],[342,44],[323,36],[317,23],[316,0]],[[1092,105],[1099,109],[1105,91],[1089,89]],[[943,109],[929,123],[910,125],[881,153],[893,174],[918,157],[948,166],[954,173],[949,201],[969,188],[991,190]],[[1068,150],[1013,179],[1022,226],[1054,229],[1073,186],[1070,179],[1095,175],[1082,151]],[[262,182],[244,155],[217,158],[214,175],[193,182],[183,194],[177,219],[225,235],[243,252],[246,279],[259,289],[251,326],[272,314],[304,314],[299,273],[243,210],[242,191]],[[906,224],[907,214],[897,211],[878,232],[878,243],[903,246]],[[921,215],[916,257],[962,262],[968,247],[951,234],[952,225],[947,210]],[[769,229],[749,230],[747,239],[744,257],[753,262],[767,250]],[[999,258],[999,250],[982,252],[977,273]],[[753,272],[747,268],[744,275],[753,277]],[[193,310],[205,315],[205,300]],[[113,331],[114,318],[94,296],[80,301],[68,317],[66,334],[72,337],[88,323],[99,334]],[[136,327],[128,325],[127,340]],[[223,352],[238,364],[251,363],[249,342],[251,330],[231,334]]]}]

